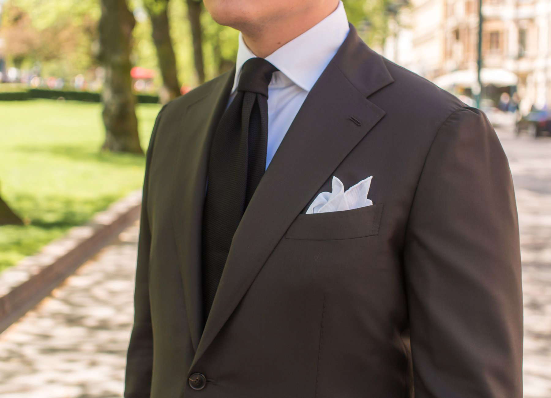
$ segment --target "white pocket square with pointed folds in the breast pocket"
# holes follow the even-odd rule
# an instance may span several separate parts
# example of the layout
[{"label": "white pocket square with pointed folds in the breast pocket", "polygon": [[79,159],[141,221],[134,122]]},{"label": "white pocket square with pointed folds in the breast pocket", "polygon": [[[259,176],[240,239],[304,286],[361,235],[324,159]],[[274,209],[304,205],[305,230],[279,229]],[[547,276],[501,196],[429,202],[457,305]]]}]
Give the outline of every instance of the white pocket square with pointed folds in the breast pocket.
[{"label": "white pocket square with pointed folds in the breast pocket", "polygon": [[359,207],[371,206],[373,202],[368,199],[371,178],[361,180],[346,191],[341,180],[333,176],[331,181],[332,192],[321,192],[307,209],[306,214],[337,212],[352,210]]}]

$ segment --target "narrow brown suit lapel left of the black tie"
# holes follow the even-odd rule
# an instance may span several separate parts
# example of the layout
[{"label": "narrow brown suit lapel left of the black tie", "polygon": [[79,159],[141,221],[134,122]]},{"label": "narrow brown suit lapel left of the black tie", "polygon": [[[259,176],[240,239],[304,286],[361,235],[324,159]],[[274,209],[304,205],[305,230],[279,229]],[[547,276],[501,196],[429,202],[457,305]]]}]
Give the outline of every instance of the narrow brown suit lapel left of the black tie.
[{"label": "narrow brown suit lapel left of the black tie", "polygon": [[183,291],[193,348],[203,329],[201,224],[210,143],[228,102],[235,68],[204,87],[205,93],[183,110],[178,157],[172,178],[172,211]]}]

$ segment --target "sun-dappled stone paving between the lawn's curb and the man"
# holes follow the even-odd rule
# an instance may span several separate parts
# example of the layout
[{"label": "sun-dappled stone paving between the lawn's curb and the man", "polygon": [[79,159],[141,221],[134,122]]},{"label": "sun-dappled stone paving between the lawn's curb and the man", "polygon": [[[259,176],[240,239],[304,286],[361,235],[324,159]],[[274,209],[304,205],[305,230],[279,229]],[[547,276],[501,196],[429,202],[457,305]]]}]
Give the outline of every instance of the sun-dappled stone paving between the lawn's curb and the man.
[{"label": "sun-dappled stone paving between the lawn's curb and the man", "polygon": [[0,335],[0,397],[120,398],[138,224]]}]

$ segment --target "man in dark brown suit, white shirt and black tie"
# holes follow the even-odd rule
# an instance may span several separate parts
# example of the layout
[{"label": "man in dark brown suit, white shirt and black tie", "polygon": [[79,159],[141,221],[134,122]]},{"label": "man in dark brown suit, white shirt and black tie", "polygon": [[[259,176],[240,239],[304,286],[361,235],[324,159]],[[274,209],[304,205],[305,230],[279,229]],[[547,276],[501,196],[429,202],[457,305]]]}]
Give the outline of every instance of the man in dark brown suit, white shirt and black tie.
[{"label": "man in dark brown suit, white shirt and black tie", "polygon": [[337,0],[205,0],[236,66],[172,101],[143,191],[127,398],[520,398],[507,159]]}]

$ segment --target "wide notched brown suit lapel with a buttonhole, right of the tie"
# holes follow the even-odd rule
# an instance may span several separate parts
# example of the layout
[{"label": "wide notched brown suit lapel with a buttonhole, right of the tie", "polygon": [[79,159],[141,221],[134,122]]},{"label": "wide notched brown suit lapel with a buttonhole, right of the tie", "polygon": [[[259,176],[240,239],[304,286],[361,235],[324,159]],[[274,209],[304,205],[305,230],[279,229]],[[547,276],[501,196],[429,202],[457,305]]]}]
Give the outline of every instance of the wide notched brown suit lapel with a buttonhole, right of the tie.
[{"label": "wide notched brown suit lapel with a buttonhole, right of the tie", "polygon": [[347,39],[307,95],[241,219],[191,369],[291,222],[385,114],[366,97],[392,81],[382,58],[350,25]]}]

